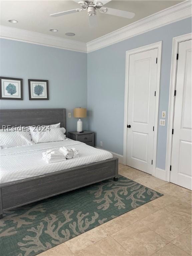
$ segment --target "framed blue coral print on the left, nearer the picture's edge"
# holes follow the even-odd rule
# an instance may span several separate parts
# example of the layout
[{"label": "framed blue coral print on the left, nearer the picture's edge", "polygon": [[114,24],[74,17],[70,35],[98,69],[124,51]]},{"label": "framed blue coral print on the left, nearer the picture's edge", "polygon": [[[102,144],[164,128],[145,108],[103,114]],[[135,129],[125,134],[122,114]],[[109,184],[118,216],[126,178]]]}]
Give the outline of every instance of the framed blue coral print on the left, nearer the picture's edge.
[{"label": "framed blue coral print on the left, nearer the picture's edge", "polygon": [[0,76],[0,99],[23,100],[23,79]]}]

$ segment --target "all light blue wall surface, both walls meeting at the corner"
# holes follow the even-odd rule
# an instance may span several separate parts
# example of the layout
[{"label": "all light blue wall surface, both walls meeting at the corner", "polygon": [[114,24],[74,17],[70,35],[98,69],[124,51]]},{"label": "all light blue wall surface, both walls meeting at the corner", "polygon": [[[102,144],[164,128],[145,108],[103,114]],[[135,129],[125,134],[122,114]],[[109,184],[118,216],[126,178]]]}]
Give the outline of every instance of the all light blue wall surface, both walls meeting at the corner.
[{"label": "all light blue wall surface, both walls meeting at the corner", "polygon": [[[23,101],[1,100],[0,107],[88,107],[84,129],[96,132],[96,146],[103,141],[104,149],[123,155],[125,52],[162,41],[159,113],[167,115],[166,126],[158,126],[157,167],[165,169],[172,39],[189,32],[191,18],[89,54],[0,39],[0,75],[23,78],[24,87]],[[29,101],[28,79],[49,80],[50,100]],[[75,118],[67,118],[67,130],[76,130]]]}]

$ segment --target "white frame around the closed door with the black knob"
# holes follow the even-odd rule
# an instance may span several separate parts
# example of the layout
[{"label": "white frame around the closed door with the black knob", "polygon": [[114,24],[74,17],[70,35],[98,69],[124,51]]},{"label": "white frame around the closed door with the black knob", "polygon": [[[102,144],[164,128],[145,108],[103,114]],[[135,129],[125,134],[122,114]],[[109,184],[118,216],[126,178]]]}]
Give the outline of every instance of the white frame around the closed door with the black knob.
[{"label": "white frame around the closed door with the black knob", "polygon": [[130,55],[158,49],[157,56],[157,87],[156,87],[156,102],[155,102],[155,129],[154,129],[154,155],[153,155],[153,170],[152,175],[155,176],[156,167],[156,151],[157,151],[157,127],[158,127],[158,110],[159,110],[159,85],[161,71],[161,45],[162,41],[148,44],[133,50],[126,51],[126,73],[125,73],[125,103],[124,103],[124,138],[123,138],[123,164],[127,165],[127,112],[128,112],[128,89],[129,89],[129,58]]}]

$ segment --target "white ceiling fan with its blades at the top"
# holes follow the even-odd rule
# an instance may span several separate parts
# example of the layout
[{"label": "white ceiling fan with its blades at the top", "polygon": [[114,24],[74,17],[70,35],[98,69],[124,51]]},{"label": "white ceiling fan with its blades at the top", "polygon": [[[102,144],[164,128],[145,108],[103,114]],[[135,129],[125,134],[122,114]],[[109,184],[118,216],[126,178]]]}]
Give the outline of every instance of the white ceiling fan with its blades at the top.
[{"label": "white ceiling fan with its blades at the top", "polygon": [[71,13],[87,10],[90,27],[97,26],[96,10],[100,11],[101,13],[120,16],[120,17],[128,18],[128,19],[132,19],[135,16],[135,13],[133,13],[133,12],[127,12],[127,11],[117,10],[117,9],[108,8],[108,7],[103,6],[106,3],[108,3],[109,1],[103,0],[102,2],[99,2],[97,0],[94,0],[94,1],[86,1],[86,0],[85,1],[76,1],[75,0],[75,2],[80,4],[81,8],[64,11],[64,12],[53,13],[53,14],[50,14],[50,16],[58,17],[58,16],[66,15],[66,14],[71,14]]}]

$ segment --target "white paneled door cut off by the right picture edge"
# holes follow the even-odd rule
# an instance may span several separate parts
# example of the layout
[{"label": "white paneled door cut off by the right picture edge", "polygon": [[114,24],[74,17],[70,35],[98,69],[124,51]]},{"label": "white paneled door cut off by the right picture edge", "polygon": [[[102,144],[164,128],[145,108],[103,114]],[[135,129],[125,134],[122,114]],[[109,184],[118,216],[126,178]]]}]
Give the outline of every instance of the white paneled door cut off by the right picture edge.
[{"label": "white paneled door cut off by the right picture edge", "polygon": [[191,189],[191,40],[179,43],[170,181]]}]

